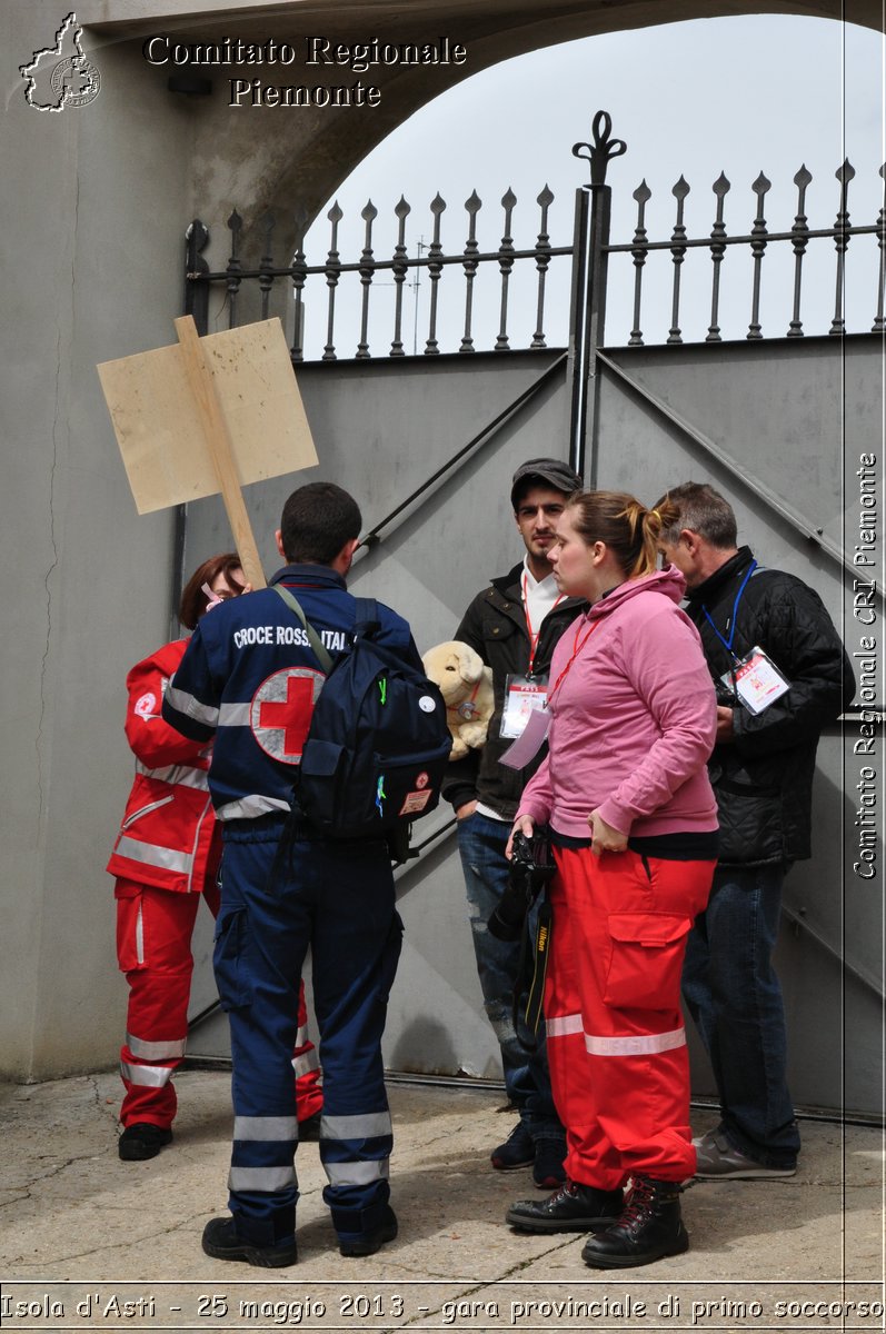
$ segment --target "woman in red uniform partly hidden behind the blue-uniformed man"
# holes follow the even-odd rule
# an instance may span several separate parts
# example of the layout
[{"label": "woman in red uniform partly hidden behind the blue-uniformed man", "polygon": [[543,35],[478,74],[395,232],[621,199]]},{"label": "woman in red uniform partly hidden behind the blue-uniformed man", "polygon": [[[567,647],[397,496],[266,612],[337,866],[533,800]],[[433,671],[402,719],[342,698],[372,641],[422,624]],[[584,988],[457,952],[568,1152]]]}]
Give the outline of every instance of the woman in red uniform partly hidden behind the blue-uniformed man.
[{"label": "woman in red uniform partly hidden behind the blue-uniformed man", "polygon": [[[200,616],[248,591],[239,556],[205,560],[191,576],[179,620]],[[164,723],[163,691],[181,662],[187,639],[164,644],[127,676],[127,740],[136,776],[107,870],[117,878],[117,962],[129,984],[127,1033],[120,1049],[125,1097],[120,1109],[120,1158],[153,1158],[172,1139],[176,1094],[171,1075],[184,1055],[191,994],[191,935],[200,895],[215,916],[222,840],[207,787],[209,750]],[[322,1107],[314,1045],[303,1031],[294,1055],[299,1121]]]}]

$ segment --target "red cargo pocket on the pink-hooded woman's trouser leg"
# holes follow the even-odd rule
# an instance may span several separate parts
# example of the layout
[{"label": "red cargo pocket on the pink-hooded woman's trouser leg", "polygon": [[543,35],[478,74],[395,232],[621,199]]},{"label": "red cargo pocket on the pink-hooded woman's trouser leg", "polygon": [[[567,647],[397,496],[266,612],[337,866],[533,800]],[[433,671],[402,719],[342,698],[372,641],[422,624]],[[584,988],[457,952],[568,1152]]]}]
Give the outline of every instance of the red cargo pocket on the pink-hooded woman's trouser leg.
[{"label": "red cargo pocket on the pink-hooded woman's trouser leg", "polygon": [[610,912],[610,964],[604,1005],[618,1010],[671,1010],[691,918],[674,912]]}]

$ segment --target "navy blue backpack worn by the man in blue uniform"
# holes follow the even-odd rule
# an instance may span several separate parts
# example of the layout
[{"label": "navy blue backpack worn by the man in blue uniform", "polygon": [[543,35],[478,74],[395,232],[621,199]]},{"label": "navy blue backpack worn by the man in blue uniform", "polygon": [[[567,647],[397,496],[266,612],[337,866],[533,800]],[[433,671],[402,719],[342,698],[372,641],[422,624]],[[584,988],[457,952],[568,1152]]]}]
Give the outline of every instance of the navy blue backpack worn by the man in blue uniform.
[{"label": "navy blue backpack worn by the man in blue uniform", "polygon": [[331,658],[288,588],[274,587],[326,672],[298,768],[298,806],[328,838],[402,835],[440,800],[452,738],[438,686],[378,642],[374,600],[356,599],[354,644]]}]

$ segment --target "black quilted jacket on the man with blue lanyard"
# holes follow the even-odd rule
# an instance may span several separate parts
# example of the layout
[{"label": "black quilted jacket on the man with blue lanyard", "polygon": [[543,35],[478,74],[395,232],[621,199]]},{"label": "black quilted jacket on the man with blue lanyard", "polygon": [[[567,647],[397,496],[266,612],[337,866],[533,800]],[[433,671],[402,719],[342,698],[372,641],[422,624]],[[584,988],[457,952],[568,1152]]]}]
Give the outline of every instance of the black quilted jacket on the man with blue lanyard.
[{"label": "black quilted jacket on the man with blue lanyard", "polygon": [[[703,584],[686,611],[702,636],[715,682],[733,660],[729,640],[735,595],[754,555],[741,547]],[[790,682],[762,714],[734,710],[733,742],[714,747],[710,779],[719,807],[721,864],[754,866],[810,856],[815,750],[822,728],[849,708],[853,667],[818,594],[794,575],[757,568],[745,584],[733,652],[758,644]]]}]

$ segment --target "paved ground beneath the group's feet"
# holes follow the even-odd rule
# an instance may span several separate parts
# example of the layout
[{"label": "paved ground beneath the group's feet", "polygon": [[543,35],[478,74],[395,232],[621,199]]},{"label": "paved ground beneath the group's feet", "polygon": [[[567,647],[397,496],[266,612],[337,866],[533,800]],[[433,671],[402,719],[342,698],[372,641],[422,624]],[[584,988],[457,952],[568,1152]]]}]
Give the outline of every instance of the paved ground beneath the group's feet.
[{"label": "paved ground beneath the group's feet", "polygon": [[[4,1330],[885,1327],[878,1130],[803,1122],[795,1177],[695,1183],[686,1255],[602,1274],[580,1237],[503,1223],[534,1191],[528,1171],[488,1166],[512,1125],[499,1094],[395,1083],[398,1241],[342,1259],[307,1143],[299,1263],[268,1274],[200,1250],[226,1209],[228,1083],[180,1075],[175,1142],[148,1163],[117,1158],[115,1074],[0,1087]],[[711,1125],[705,1113],[695,1129]]]}]

